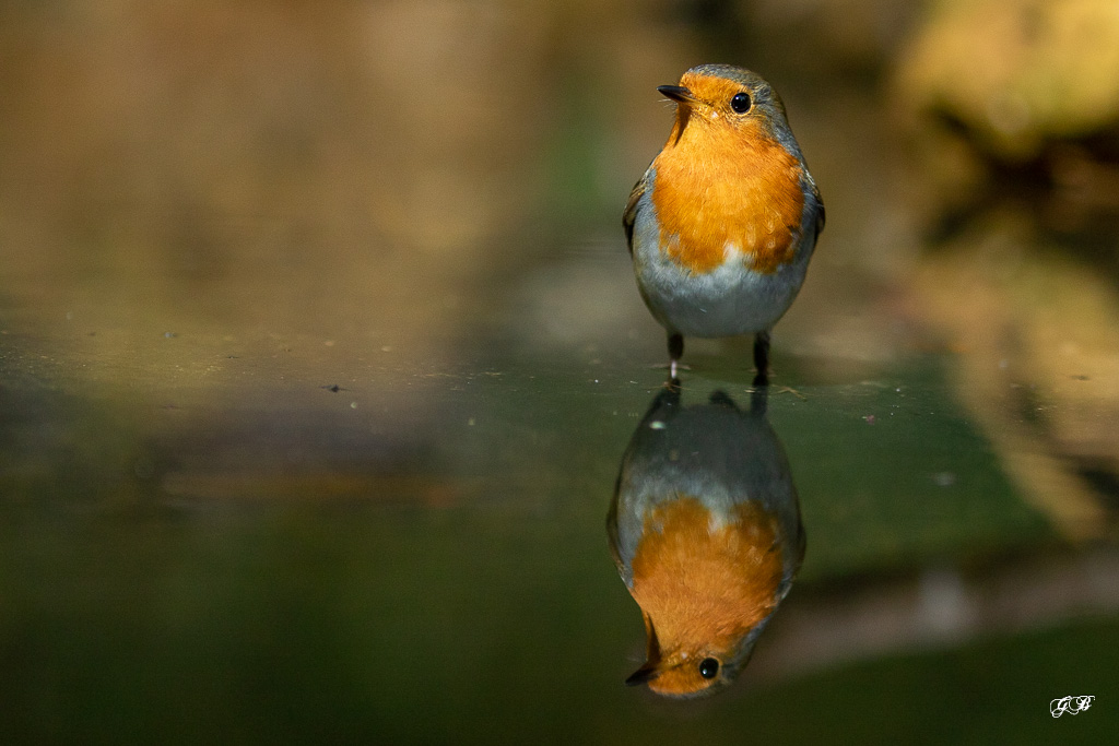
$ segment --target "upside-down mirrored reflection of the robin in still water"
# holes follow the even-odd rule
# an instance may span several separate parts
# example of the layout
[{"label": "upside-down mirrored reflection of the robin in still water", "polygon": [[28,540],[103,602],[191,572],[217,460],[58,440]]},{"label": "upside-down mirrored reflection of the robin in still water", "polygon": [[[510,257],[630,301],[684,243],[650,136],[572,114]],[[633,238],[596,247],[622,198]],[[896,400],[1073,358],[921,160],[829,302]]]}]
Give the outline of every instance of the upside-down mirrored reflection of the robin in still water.
[{"label": "upside-down mirrored reflection of the robin in still water", "polygon": [[648,634],[627,683],[695,697],[732,682],[792,585],[805,535],[765,397],[683,407],[673,381],[633,433],[606,519]]}]

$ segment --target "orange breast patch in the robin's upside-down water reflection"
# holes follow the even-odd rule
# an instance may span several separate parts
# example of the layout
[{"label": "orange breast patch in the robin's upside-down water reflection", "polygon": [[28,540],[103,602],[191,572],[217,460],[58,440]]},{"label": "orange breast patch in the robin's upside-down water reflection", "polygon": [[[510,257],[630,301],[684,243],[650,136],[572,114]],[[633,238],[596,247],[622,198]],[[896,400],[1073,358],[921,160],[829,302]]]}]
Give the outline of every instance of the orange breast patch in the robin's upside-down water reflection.
[{"label": "orange breast patch in the robin's upside-down water reflection", "polygon": [[772,513],[746,502],[721,522],[681,497],[645,516],[631,593],[662,644],[730,650],[772,612],[781,573]]}]

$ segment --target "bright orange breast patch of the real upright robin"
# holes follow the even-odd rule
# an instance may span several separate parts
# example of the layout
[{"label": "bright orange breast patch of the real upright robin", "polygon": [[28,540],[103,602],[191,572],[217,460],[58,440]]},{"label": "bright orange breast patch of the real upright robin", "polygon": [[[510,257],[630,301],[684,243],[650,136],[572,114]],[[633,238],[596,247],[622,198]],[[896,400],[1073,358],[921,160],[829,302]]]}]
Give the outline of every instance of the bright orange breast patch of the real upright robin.
[{"label": "bright orange breast patch of the real upright robin", "polygon": [[677,117],[656,169],[652,205],[661,249],[692,272],[711,272],[728,245],[765,274],[791,261],[805,208],[801,166],[758,122]]}]

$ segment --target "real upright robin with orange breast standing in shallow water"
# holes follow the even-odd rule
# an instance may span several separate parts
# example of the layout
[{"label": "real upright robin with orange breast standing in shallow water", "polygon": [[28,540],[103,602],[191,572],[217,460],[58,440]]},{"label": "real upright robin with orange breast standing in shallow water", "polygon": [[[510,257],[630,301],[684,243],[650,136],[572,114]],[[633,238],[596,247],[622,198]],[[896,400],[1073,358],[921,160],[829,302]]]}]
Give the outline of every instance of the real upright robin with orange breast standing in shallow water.
[{"label": "real upright robin with orange breast standing in shallow water", "polygon": [[641,298],[668,332],[669,377],[685,337],[754,334],[764,385],[770,330],[824,229],[819,189],[756,73],[699,65],[657,91],[676,102],[676,121],[622,223]]}]

